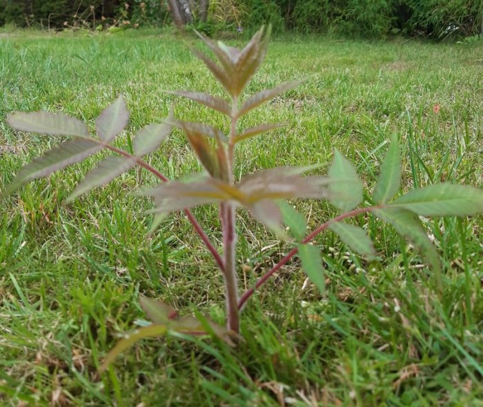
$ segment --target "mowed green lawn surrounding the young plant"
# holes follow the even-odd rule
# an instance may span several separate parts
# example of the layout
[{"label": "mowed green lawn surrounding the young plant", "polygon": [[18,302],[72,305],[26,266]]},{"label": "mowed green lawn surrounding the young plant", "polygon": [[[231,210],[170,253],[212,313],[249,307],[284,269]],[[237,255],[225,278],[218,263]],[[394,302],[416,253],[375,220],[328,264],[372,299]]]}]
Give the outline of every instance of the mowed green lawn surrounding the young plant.
[{"label": "mowed green lawn surrounding the young plant", "polygon": [[[13,110],[66,112],[93,129],[99,112],[123,94],[131,117],[116,143],[128,149],[135,132],[161,121],[175,101],[163,90],[222,96],[189,43],[196,41],[155,31],[0,34],[1,190],[63,139],[11,130],[6,115]],[[247,91],[310,78],[242,121],[288,126],[240,144],[237,177],[314,163],[324,173],[338,148],[357,165],[370,199],[397,129],[404,190],[440,181],[481,188],[482,66],[481,44],[273,39]],[[188,101],[177,101],[175,112],[226,126]],[[152,203],[139,186],[155,185],[150,174],[130,170],[63,203],[98,160],[1,201],[2,406],[483,406],[481,217],[424,219],[444,264],[442,294],[411,245],[360,216],[355,222],[373,237],[378,259],[368,264],[332,232],[319,237],[325,297],[295,260],[244,310],[238,348],[210,339],[146,340],[99,377],[122,332],[146,319],[140,294],[218,321],[224,295],[209,252],[183,215],[146,236]],[[170,178],[200,170],[177,131],[148,160]],[[324,201],[294,204],[312,228],[337,213]],[[215,207],[195,215],[220,247]],[[246,212],[238,215],[243,290],[290,246]]]}]

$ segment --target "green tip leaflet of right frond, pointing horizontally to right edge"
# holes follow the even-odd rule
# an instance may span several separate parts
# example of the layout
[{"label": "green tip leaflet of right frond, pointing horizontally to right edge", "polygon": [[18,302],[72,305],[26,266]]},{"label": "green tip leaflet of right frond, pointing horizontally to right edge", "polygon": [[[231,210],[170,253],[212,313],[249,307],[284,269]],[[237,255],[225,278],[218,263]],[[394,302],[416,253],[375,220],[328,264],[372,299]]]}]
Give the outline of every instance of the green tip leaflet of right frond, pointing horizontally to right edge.
[{"label": "green tip leaflet of right frond, pointing horizontally to right edge", "polygon": [[483,213],[483,190],[452,183],[435,183],[396,199],[391,207],[423,216],[471,216]]}]

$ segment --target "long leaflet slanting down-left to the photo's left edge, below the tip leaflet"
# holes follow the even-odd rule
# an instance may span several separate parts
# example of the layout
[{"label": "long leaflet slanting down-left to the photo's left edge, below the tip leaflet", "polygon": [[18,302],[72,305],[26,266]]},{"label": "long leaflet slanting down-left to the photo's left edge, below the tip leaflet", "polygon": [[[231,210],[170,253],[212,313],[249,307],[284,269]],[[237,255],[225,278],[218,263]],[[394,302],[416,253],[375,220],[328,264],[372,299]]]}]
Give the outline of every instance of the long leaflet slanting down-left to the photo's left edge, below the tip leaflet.
[{"label": "long leaflet slanting down-left to the photo's left edge, below the tip leaflet", "polygon": [[52,172],[78,163],[102,148],[103,146],[93,139],[66,141],[23,167],[10,186],[8,186],[6,195],[10,195],[14,190],[17,190],[17,188],[32,179],[46,177],[52,174]]}]

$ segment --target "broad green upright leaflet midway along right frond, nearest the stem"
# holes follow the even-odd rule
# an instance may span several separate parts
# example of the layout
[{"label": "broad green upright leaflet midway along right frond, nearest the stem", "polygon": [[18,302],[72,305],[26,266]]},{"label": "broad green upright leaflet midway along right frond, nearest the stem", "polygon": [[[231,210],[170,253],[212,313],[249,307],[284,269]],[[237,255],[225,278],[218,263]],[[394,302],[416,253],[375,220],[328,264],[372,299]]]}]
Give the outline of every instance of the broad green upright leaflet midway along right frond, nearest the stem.
[{"label": "broad green upright leaflet midway along right frond, nearest the stem", "polygon": [[330,190],[333,196],[330,201],[343,212],[348,212],[362,202],[364,184],[357,176],[354,166],[339,150],[334,151],[334,160],[328,168],[331,178]]}]

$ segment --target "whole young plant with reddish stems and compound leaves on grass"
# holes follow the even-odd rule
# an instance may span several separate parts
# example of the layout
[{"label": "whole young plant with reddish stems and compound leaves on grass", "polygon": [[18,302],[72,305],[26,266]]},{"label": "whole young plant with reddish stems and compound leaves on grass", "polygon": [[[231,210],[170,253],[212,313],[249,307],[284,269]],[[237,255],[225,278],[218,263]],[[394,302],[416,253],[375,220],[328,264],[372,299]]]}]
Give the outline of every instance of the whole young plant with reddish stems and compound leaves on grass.
[{"label": "whole young plant with reddish stems and compound leaves on grass", "polygon": [[[333,162],[328,168],[326,177],[304,175],[314,167],[283,167],[260,170],[240,181],[235,179],[233,168],[237,144],[282,126],[279,123],[261,123],[252,128],[239,130],[239,119],[265,101],[300,83],[300,81],[287,83],[243,98],[247,83],[264,60],[269,34],[269,30],[265,31],[262,28],[242,50],[199,36],[213,52],[215,60],[199,50],[193,50],[193,52],[225,88],[229,95],[228,100],[197,92],[181,90],[171,92],[221,112],[227,117],[228,132],[205,123],[176,119],[170,112],[163,123],[151,124],[135,135],[132,142],[133,153],[130,154],[112,145],[112,140],[128,123],[129,115],[126,102],[122,97],[103,110],[96,119],[97,138],[90,136],[84,123],[61,113],[14,112],[8,117],[10,126],[19,130],[75,138],[61,143],[59,147],[25,166],[8,187],[6,194],[10,194],[27,181],[50,175],[103,149],[110,150],[116,155],[103,159],[97,168],[88,173],[68,197],[68,201],[76,199],[92,188],[108,183],[130,168],[140,166],[152,172],[161,181],[159,186],[145,192],[154,199],[153,224],[159,224],[159,221],[172,211],[183,210],[213,255],[224,278],[227,315],[225,328],[217,326],[201,315],[178,317],[177,311],[170,306],[154,299],[141,297],[141,305],[153,324],[139,328],[121,339],[106,357],[102,368],[106,368],[122,350],[138,339],[166,335],[172,330],[192,335],[215,334],[230,342],[239,333],[239,315],[246,301],[257,288],[295,255],[299,256],[311,281],[321,292],[324,292],[322,256],[319,248],[309,243],[320,232],[330,228],[359,255],[367,258],[375,257],[375,249],[366,232],[353,224],[342,222],[344,219],[362,213],[371,213],[393,225],[400,235],[420,248],[428,263],[431,264],[441,288],[440,257],[428,238],[419,216],[468,216],[483,212],[482,190],[451,183],[418,188],[394,199],[400,190],[402,172],[396,135],[391,139],[377,185],[369,199],[373,201],[372,206],[358,207],[363,201],[364,185],[351,162],[337,150],[334,150]],[[168,181],[159,170],[150,166],[142,158],[157,150],[174,127],[184,131],[193,152],[205,169],[201,175],[190,177],[190,181]],[[328,199],[340,211],[340,215],[326,221],[306,235],[307,225],[304,217],[287,203],[288,199],[296,198]],[[221,254],[190,212],[190,208],[194,206],[207,204],[216,204],[219,208],[223,233]],[[247,208],[255,219],[293,244],[292,250],[241,297],[237,288],[235,259],[236,211],[239,207]],[[287,235],[284,226],[288,226],[291,236]]]}]

